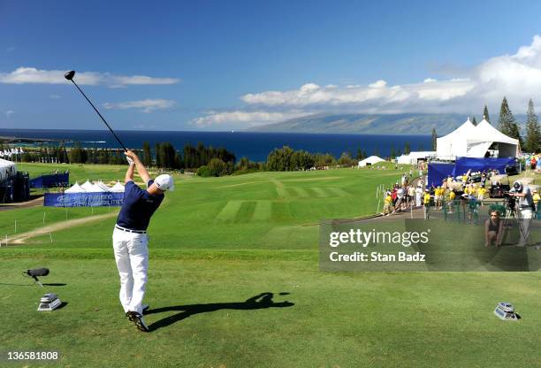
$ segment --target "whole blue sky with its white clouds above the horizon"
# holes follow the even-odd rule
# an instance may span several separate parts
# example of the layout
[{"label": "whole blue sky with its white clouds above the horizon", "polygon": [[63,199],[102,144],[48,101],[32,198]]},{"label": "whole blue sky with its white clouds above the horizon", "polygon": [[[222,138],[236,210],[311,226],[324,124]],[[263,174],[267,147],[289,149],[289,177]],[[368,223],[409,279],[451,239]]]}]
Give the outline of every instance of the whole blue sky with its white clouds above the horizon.
[{"label": "whole blue sky with its white clouds above the horizon", "polygon": [[[336,4],[338,3],[338,4]],[[541,103],[541,3],[0,0],[0,127],[229,130]]]}]

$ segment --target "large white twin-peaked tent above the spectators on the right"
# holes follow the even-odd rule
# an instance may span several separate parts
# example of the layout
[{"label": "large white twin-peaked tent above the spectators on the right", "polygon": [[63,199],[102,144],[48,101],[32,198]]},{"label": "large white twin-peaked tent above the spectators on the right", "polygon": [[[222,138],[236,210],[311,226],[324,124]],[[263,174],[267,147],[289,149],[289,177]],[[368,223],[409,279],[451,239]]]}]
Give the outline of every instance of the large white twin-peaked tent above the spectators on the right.
[{"label": "large white twin-peaked tent above the spectators on the right", "polygon": [[477,126],[468,119],[453,132],[437,139],[436,156],[451,160],[456,157],[485,157],[492,144],[497,146],[499,157],[518,155],[518,140],[499,132],[485,119]]}]

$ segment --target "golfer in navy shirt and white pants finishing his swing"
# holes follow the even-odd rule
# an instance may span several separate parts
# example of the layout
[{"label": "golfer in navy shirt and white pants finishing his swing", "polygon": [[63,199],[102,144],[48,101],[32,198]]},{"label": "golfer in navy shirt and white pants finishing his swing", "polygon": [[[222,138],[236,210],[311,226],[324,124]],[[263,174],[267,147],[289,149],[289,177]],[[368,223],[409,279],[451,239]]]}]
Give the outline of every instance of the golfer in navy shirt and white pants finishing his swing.
[{"label": "golfer in navy shirt and white pants finishing his swing", "polygon": [[[159,175],[151,180],[149,172],[133,151],[125,152],[129,167],[125,178],[124,203],[118,213],[117,225],[113,231],[113,249],[120,276],[120,303],[126,317],[142,332],[149,327],[142,317],[142,300],[147,284],[149,268],[149,249],[147,227],[154,212],[164,200],[164,191],[173,190],[171,175]],[[133,182],[133,171],[147,184],[147,189],[139,188]]]}]

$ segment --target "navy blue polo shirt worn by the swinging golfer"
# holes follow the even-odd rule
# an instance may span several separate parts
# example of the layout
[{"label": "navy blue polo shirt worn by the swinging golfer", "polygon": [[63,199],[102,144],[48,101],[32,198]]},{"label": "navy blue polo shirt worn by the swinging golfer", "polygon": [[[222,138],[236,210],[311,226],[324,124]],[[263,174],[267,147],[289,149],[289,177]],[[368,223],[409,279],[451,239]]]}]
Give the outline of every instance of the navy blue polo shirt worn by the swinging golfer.
[{"label": "navy blue polo shirt worn by the swinging golfer", "polygon": [[[154,180],[149,180],[149,188]],[[164,200],[164,195],[151,196],[149,192],[139,188],[133,180],[124,188],[124,203],[118,213],[117,225],[130,230],[147,230],[150,218]]]}]

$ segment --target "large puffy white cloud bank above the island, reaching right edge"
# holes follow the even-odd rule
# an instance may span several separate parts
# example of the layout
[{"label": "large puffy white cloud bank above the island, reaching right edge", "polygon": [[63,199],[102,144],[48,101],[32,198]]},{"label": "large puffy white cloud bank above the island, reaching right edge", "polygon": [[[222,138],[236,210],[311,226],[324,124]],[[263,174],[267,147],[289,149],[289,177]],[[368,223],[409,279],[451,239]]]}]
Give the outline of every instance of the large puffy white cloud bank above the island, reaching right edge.
[{"label": "large puffy white cloud bank above the island, reaching right edge", "polygon": [[476,65],[467,75],[446,80],[426,78],[394,86],[385,80],[338,88],[320,87],[312,82],[298,89],[249,93],[240,99],[258,111],[389,113],[479,111],[484,104],[499,106],[503,96],[507,96],[512,109],[525,111],[530,98],[541,103],[541,36],[534,36],[530,45],[520,47],[515,54]]}]

